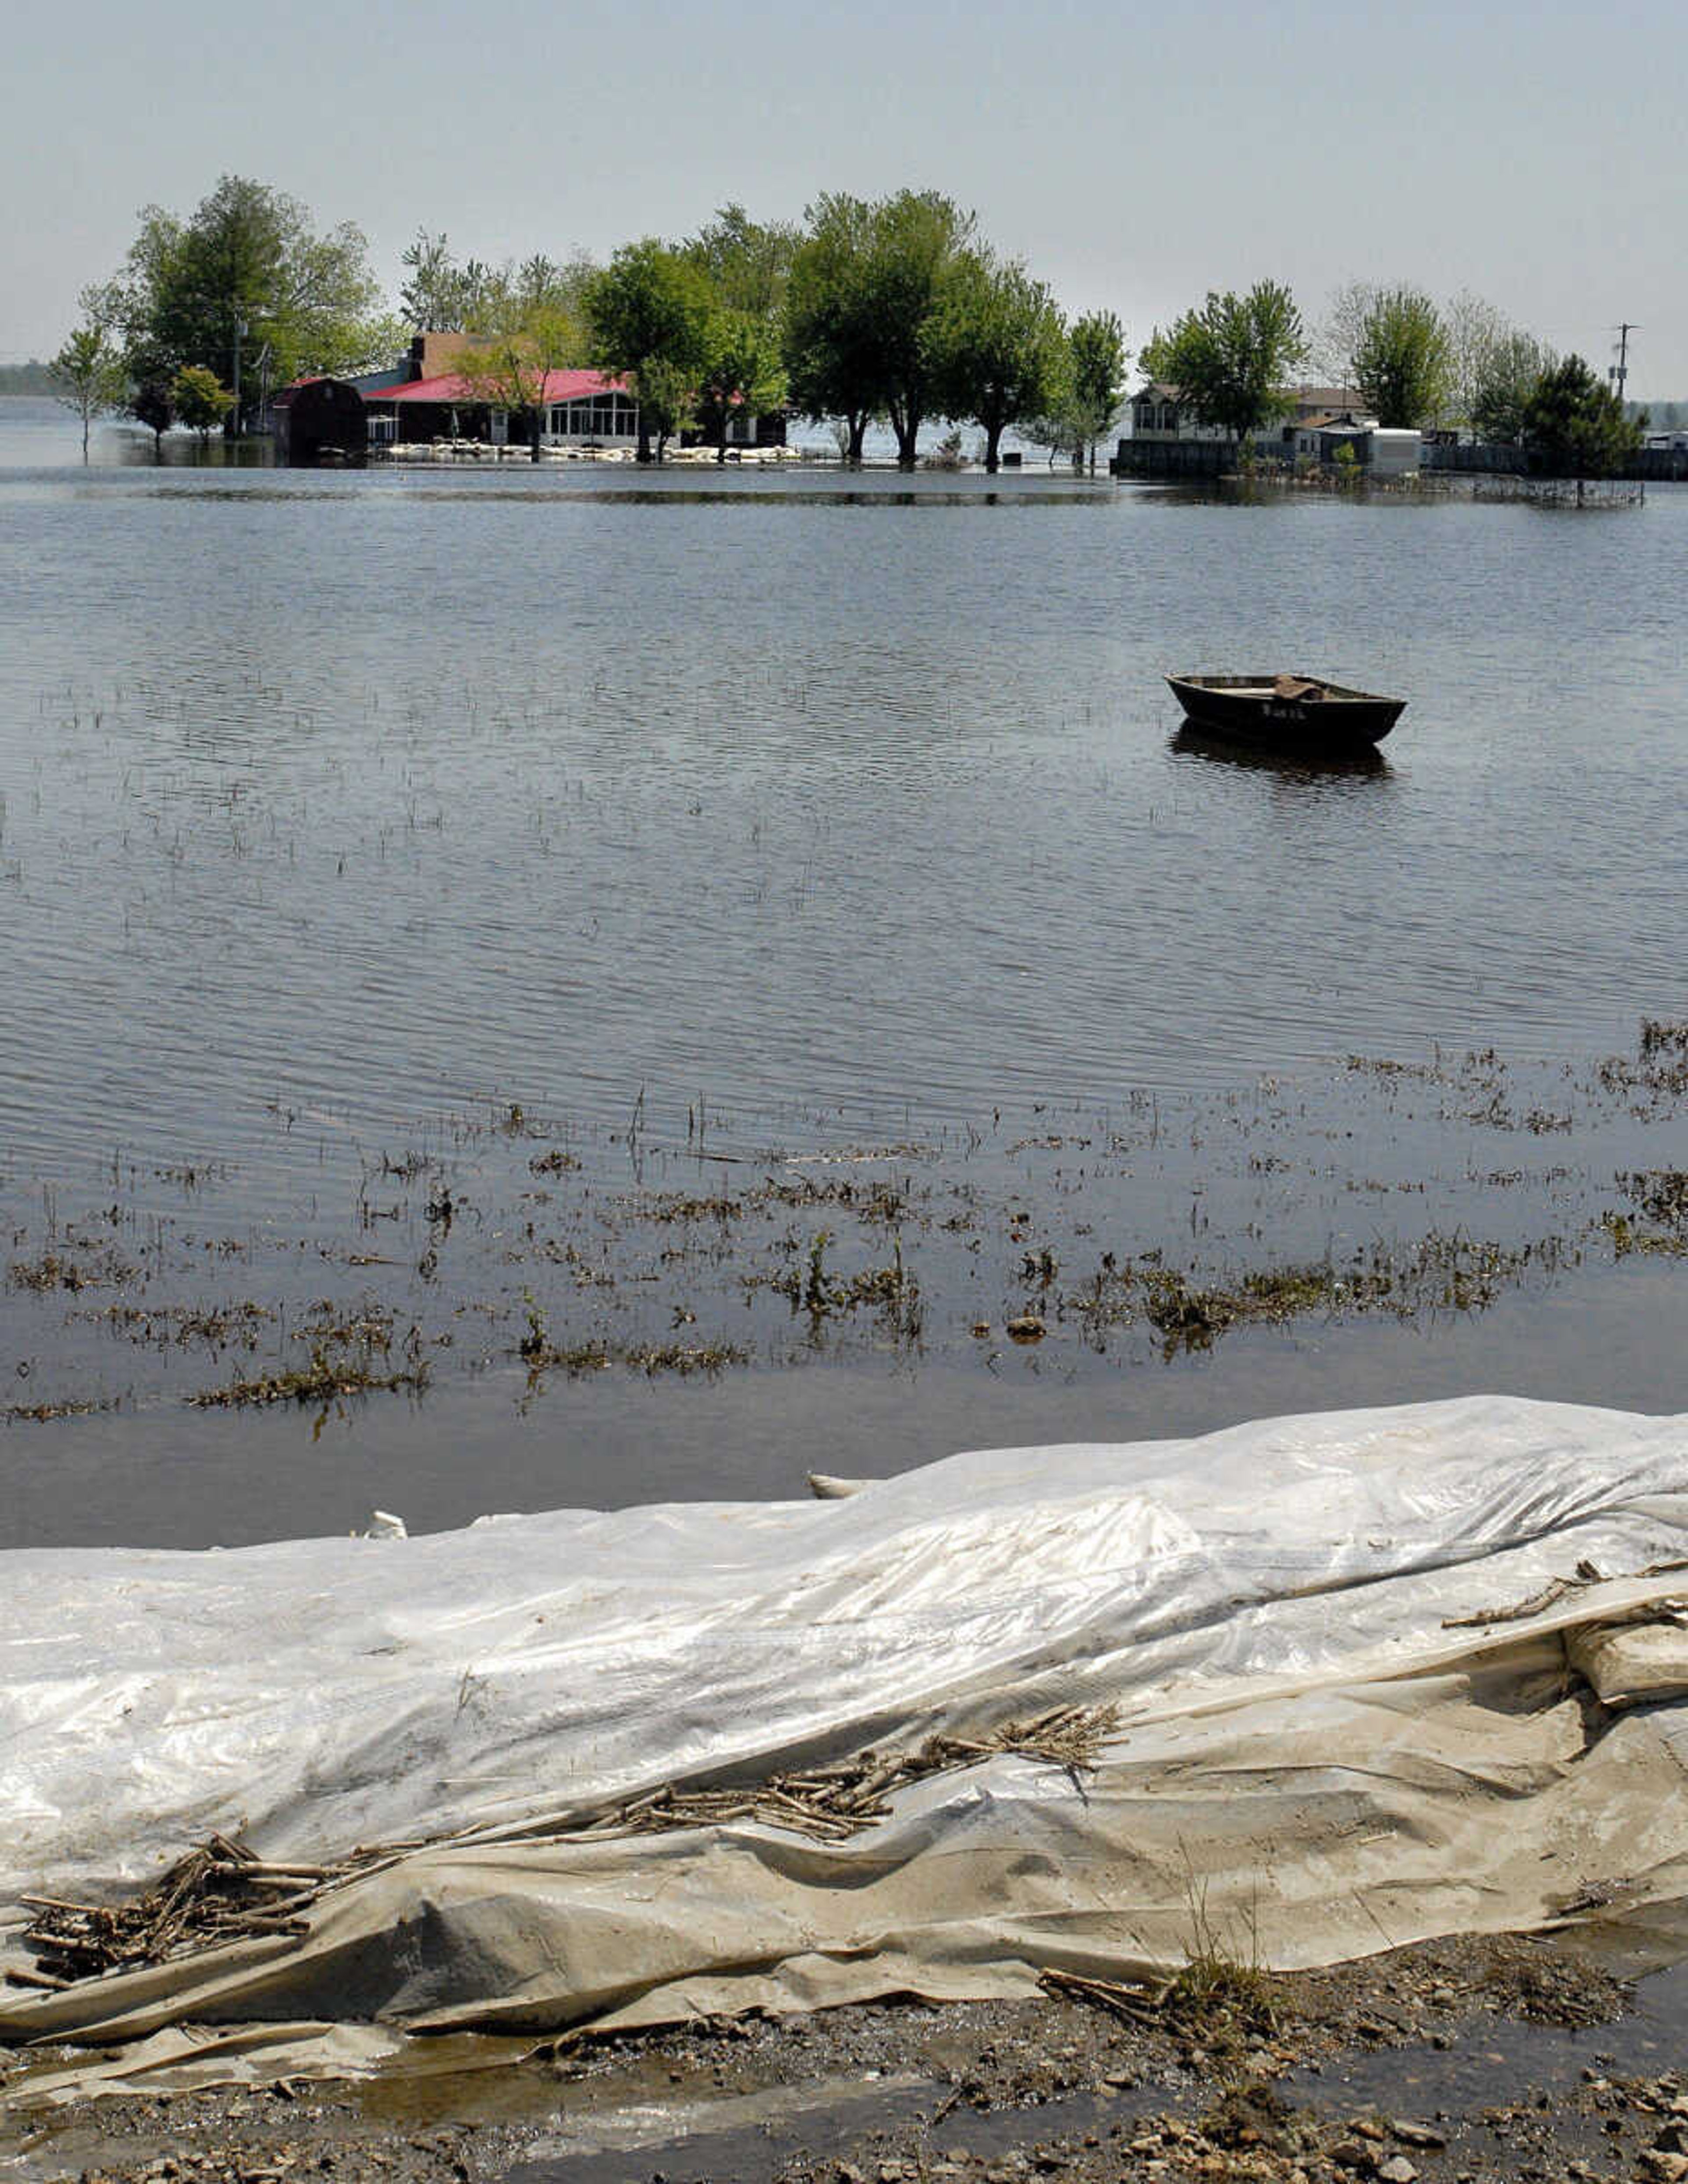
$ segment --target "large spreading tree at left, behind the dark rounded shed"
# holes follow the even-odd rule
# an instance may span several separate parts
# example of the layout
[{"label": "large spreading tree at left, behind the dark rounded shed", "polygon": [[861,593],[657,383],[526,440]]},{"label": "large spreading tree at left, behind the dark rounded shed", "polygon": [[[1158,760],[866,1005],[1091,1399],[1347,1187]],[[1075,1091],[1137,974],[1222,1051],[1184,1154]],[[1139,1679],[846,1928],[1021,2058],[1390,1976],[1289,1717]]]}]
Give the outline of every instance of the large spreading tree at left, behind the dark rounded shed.
[{"label": "large spreading tree at left, behind the dark rounded shed", "polygon": [[[358,227],[317,234],[297,199],[242,175],[225,175],[188,221],[148,205],[122,271],[94,295],[131,360],[227,369],[236,389],[255,358],[280,382],[356,369],[378,301]],[[231,404],[229,430],[245,408]]]}]

